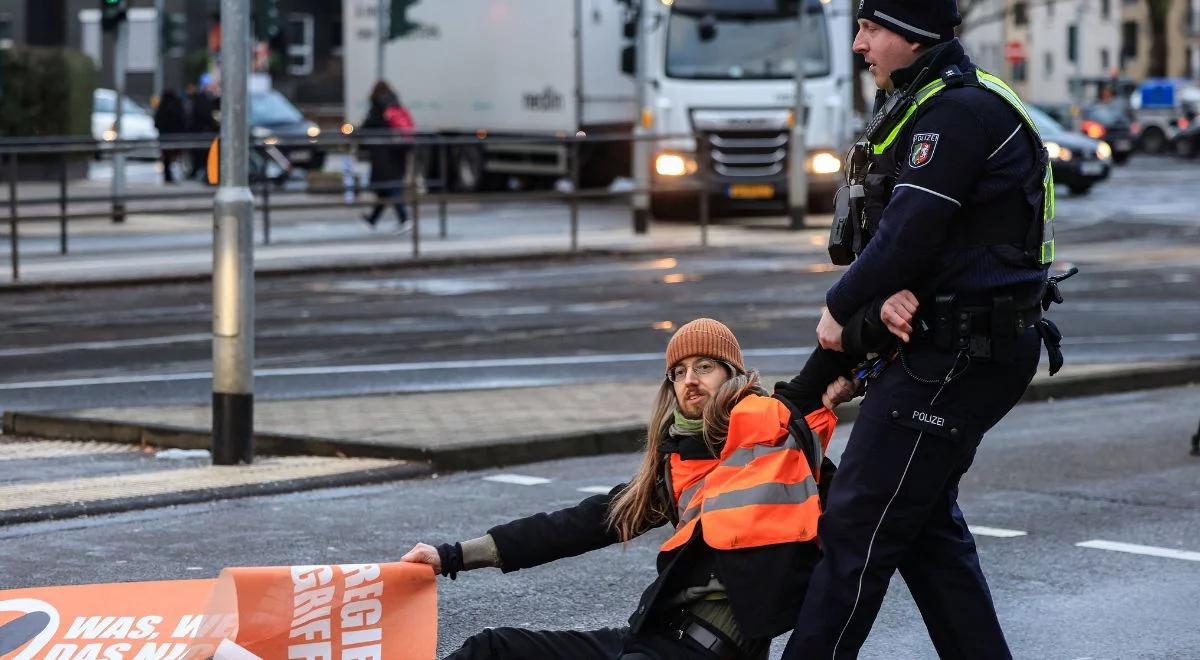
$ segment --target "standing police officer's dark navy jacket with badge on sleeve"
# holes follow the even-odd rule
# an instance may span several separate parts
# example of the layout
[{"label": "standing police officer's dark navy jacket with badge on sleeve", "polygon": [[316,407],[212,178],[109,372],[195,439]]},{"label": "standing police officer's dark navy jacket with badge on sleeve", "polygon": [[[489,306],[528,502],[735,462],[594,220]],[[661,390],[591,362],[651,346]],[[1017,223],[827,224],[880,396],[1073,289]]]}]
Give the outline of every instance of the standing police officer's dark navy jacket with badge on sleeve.
[{"label": "standing police officer's dark navy jacket with badge on sleeve", "polygon": [[[919,89],[950,66],[976,71],[958,40],[930,49],[892,80],[896,89]],[[950,86],[922,104],[872,164],[866,193],[874,236],[826,295],[834,319],[845,325],[856,310],[898,289],[926,298],[1043,282],[1044,270],[1020,263],[1019,246],[960,245],[972,223],[1013,222],[1020,239],[1034,214],[1040,224],[1040,209],[1027,205],[1022,190],[1031,174],[1040,184],[1040,148],[1016,110],[991,91]]]}]

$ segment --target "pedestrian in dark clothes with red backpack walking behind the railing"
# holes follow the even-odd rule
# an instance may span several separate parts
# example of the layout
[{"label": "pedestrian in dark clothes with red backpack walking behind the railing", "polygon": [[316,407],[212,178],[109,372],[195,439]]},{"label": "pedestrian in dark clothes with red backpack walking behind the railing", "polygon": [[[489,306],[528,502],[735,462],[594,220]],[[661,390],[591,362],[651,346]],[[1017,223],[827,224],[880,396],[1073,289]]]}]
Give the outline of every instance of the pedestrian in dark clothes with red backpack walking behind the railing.
[{"label": "pedestrian in dark clothes with red backpack walking behind the railing", "polygon": [[[376,193],[376,205],[362,220],[372,228],[379,222],[386,205],[396,209],[400,220],[398,230],[409,228],[408,211],[404,206],[404,178],[408,173],[408,154],[412,146],[403,138],[415,130],[413,115],[400,102],[400,97],[388,83],[379,80],[371,91],[371,109],[362,121],[361,128],[368,138],[389,137],[388,144],[370,144],[371,188]],[[400,140],[395,137],[400,137]]]}]

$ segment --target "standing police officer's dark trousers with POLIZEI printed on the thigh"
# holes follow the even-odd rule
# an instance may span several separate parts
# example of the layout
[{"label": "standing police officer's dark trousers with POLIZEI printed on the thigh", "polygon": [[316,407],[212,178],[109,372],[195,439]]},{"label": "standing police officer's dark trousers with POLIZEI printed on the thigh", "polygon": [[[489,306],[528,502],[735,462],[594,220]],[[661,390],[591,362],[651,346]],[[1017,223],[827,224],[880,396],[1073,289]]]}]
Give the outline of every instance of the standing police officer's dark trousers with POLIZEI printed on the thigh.
[{"label": "standing police officer's dark trousers with POLIZEI printed on the thigh", "polygon": [[[1030,331],[1015,361],[972,361],[949,384],[918,383],[896,360],[871,385],[818,524],[824,557],[784,658],[856,658],[898,569],[941,658],[1010,658],[958,486],[983,434],[1025,392],[1039,354]],[[955,359],[966,362],[928,344],[908,348],[923,378],[944,376]]]}]

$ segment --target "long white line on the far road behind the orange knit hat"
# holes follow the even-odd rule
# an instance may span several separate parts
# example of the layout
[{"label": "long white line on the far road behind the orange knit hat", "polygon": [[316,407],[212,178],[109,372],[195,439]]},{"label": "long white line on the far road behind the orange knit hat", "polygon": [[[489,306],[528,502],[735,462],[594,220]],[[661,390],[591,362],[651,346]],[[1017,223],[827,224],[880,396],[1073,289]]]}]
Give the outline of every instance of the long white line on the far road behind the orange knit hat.
[{"label": "long white line on the far road behind the orange knit hat", "polygon": [[[796,348],[760,348],[743,350],[746,358],[784,358],[808,355],[811,346]],[[408,371],[456,370],[456,368],[511,368],[556,365],[594,365],[607,362],[646,362],[661,360],[661,353],[610,353],[600,355],[552,355],[536,358],[505,358],[492,360],[448,360],[443,362],[400,362],[390,365],[340,365],[328,367],[286,367],[254,370],[256,378],[288,376],[340,376],[360,373],[400,373]],[[208,371],[185,373],[154,373],[144,376],[104,376],[96,378],[70,378],[64,380],[34,380],[0,384],[0,391],[38,390],[48,388],[74,388],[85,385],[132,385],[138,383],[178,383],[182,380],[211,380]]]}]

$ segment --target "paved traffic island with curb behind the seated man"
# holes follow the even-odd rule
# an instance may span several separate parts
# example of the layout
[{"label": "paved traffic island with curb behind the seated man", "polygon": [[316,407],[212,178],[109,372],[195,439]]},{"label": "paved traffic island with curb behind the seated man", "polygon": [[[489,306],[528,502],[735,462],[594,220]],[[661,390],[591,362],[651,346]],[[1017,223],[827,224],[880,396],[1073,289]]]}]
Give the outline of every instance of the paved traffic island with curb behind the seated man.
[{"label": "paved traffic island with curb behind the seated man", "polygon": [[[1068,366],[1052,379],[1043,366],[1026,401],[1196,382],[1200,361]],[[614,382],[259,401],[260,458],[250,468],[194,456],[211,442],[206,406],[7,414],[0,524],[636,451],[656,388]],[[853,404],[839,410],[844,424],[856,413]],[[92,439],[104,442],[61,442]],[[155,458],[169,448],[193,451],[182,462]]]}]

